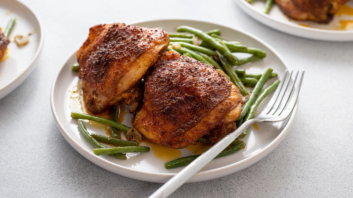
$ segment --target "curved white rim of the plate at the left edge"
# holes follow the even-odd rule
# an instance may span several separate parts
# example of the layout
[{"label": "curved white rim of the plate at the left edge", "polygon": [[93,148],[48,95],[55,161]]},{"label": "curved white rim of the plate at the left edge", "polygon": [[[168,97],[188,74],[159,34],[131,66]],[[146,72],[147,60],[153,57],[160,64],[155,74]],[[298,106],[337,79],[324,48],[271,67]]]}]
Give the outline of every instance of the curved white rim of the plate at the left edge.
[{"label": "curved white rim of the plate at the left edge", "polygon": [[0,99],[4,98],[6,95],[11,93],[14,89],[16,89],[32,73],[32,71],[34,70],[34,68],[36,66],[35,63],[37,62],[38,57],[39,57],[40,53],[42,52],[43,43],[44,43],[43,24],[42,24],[40,17],[37,14],[37,12],[31,6],[29,6],[27,3],[23,2],[22,0],[12,0],[12,1],[16,1],[19,4],[22,4],[34,15],[34,17],[36,18],[37,23],[39,25],[41,35],[40,35],[40,41],[39,41],[36,53],[34,54],[31,61],[28,63],[28,66],[26,67],[26,69],[24,69],[20,74],[18,74],[15,79],[11,80],[4,87],[0,88]]}]

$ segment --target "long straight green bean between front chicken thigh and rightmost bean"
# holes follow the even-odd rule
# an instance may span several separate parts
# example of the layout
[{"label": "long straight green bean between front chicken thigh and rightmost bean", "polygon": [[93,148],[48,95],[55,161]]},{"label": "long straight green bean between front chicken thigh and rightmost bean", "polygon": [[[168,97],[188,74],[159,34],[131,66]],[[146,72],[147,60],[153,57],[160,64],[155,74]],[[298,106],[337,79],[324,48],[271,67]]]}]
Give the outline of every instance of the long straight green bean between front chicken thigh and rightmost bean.
[{"label": "long straight green bean between front chicken thigh and rightmost bean", "polygon": [[261,78],[259,81],[256,83],[249,99],[246,101],[246,103],[243,105],[243,108],[241,109],[241,114],[238,118],[238,120],[241,120],[245,117],[247,112],[249,112],[250,107],[253,105],[255,102],[258,94],[260,93],[262,87],[265,85],[266,81],[269,79],[273,69],[267,68],[264,74],[262,74]]}]

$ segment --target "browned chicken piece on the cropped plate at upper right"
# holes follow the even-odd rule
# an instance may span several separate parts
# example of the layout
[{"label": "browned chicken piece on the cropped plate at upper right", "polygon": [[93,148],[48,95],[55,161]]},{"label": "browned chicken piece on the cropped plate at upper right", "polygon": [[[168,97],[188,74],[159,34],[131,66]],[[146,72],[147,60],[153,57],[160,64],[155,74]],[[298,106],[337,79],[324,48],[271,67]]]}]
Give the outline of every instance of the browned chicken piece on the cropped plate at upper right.
[{"label": "browned chicken piece on the cropped plate at upper right", "polygon": [[329,23],[342,4],[348,0],[275,0],[289,18]]}]

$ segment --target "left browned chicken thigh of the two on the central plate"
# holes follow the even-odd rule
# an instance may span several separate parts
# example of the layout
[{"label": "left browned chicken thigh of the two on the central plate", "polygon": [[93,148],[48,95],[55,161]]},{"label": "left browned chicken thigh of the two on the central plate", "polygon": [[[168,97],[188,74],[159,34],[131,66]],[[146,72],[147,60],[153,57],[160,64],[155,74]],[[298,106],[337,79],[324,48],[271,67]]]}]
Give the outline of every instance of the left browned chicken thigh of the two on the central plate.
[{"label": "left browned chicken thigh of the two on the central plate", "polygon": [[91,27],[77,51],[87,109],[99,114],[121,101],[134,111],[142,96],[140,80],[168,45],[169,35],[161,29],[119,23]]}]

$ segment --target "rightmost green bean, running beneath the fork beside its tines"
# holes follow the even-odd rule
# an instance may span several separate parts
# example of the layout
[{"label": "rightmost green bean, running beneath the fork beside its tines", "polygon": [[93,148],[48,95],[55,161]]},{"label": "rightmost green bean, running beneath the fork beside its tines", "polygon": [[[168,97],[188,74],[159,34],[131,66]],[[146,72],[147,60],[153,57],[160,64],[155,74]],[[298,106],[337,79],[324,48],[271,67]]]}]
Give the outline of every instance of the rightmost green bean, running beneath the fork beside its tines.
[{"label": "rightmost green bean, running beneath the fork beside its tines", "polygon": [[[246,122],[247,120],[252,119],[255,116],[257,107],[259,106],[259,104],[261,103],[261,101],[268,96],[271,92],[273,92],[278,85],[280,84],[280,80],[276,80],[275,82],[273,82],[270,86],[268,86],[260,95],[259,97],[256,99],[255,103],[250,107],[250,111],[249,113],[247,113],[247,115],[244,118],[244,122]],[[247,134],[247,129],[240,134],[240,138],[244,138]]]}]

